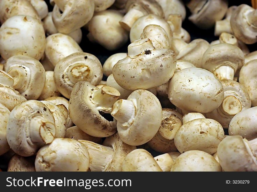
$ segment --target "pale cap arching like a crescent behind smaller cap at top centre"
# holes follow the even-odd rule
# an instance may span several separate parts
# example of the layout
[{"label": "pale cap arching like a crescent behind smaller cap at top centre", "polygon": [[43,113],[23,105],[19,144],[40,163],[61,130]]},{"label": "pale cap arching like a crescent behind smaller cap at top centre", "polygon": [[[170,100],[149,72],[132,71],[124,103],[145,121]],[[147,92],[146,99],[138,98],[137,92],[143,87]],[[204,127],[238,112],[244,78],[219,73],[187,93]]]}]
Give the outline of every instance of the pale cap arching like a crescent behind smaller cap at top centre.
[{"label": "pale cap arching like a crescent behind smaller cap at top centre", "polygon": [[129,34],[131,43],[140,39],[140,35],[143,33],[143,30],[147,25],[159,25],[160,27],[162,27],[168,34],[169,43],[171,45],[173,33],[169,23],[167,23],[166,20],[164,20],[161,16],[154,15],[154,14],[148,14],[143,17],[140,17],[132,25],[130,34]]}]

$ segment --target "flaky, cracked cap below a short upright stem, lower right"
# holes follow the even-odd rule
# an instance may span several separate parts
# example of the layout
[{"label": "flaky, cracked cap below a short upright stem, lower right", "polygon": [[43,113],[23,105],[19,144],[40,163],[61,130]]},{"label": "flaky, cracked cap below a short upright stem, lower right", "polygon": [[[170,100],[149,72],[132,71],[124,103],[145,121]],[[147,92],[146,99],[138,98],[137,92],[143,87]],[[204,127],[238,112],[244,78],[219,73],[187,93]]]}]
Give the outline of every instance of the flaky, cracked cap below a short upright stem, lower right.
[{"label": "flaky, cracked cap below a short upright stem, lower right", "polygon": [[224,135],[219,122],[213,119],[195,119],[178,129],[174,142],[180,153],[200,150],[212,155],[217,151],[218,144],[224,139]]}]

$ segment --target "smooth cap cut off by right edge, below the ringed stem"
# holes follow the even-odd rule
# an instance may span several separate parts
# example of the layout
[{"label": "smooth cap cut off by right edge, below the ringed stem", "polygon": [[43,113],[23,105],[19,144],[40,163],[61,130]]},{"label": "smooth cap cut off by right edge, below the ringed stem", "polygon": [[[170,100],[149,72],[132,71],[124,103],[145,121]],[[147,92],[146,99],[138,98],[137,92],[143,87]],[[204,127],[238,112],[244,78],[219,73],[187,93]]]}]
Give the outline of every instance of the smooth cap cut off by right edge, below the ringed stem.
[{"label": "smooth cap cut off by right edge, below the ringed stem", "polygon": [[251,140],[257,138],[257,107],[237,113],[229,123],[229,135],[241,135]]}]

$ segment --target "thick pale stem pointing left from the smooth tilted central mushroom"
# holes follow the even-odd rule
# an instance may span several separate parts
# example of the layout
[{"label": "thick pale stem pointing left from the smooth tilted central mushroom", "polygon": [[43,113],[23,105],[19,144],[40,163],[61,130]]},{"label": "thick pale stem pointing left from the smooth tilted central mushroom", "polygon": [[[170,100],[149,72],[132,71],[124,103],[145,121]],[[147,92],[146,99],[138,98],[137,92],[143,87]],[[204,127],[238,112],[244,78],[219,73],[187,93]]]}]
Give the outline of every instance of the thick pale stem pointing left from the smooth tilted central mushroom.
[{"label": "thick pale stem pointing left from the smooth tilted central mushroom", "polygon": [[131,100],[120,99],[113,104],[111,115],[121,124],[132,124],[136,115],[135,105]]}]

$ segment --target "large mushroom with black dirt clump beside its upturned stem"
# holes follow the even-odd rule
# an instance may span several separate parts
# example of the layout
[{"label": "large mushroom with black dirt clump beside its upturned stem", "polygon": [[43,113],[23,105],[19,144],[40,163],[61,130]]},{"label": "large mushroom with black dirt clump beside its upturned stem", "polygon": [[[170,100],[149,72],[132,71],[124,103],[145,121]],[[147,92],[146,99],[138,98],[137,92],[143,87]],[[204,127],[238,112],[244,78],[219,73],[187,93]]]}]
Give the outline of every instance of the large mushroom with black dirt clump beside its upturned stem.
[{"label": "large mushroom with black dirt clump beside its upturned stem", "polygon": [[154,49],[145,38],[128,46],[127,57],[112,68],[115,81],[124,89],[150,89],[165,84],[173,76],[176,56],[171,49]]}]

